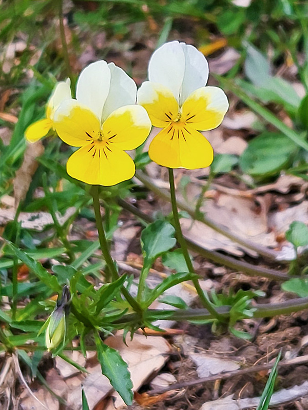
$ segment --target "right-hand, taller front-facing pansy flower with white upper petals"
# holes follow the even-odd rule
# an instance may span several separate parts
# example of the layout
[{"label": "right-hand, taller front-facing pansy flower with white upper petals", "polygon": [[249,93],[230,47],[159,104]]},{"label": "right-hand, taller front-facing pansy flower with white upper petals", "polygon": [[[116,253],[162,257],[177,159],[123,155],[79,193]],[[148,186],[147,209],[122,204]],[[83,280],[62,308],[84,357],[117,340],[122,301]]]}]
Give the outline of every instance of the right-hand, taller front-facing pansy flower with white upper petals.
[{"label": "right-hand, taller front-facing pansy flower with white upper petals", "polygon": [[228,100],[220,88],[205,87],[206,58],[194,46],[166,43],[152,54],[148,78],[137,101],[152,125],[162,128],[149,146],[149,157],[168,168],[208,167],[213,148],[199,131],[221,124]]}]

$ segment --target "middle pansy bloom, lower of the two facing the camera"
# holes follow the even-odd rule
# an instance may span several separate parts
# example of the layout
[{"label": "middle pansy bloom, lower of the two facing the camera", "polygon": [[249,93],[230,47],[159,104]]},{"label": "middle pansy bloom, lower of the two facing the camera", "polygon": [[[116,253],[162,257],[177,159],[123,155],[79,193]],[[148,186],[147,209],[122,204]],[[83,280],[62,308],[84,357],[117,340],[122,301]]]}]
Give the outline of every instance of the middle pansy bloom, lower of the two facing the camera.
[{"label": "middle pansy bloom, lower of the two facing the camera", "polygon": [[124,150],[139,147],[151,129],[136,95],[133,79],[113,63],[96,61],[80,73],[76,99],[63,101],[54,116],[60,138],[81,147],[67,161],[71,177],[111,186],[134,175],[134,162]]}]

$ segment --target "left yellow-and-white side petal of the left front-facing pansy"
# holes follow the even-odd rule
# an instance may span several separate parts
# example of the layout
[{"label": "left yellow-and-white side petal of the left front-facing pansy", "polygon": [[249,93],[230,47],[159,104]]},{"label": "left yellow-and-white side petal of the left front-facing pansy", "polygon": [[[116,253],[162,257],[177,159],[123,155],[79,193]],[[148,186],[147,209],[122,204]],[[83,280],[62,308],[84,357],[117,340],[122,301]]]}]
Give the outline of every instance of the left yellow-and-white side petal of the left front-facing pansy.
[{"label": "left yellow-and-white side petal of the left front-facing pansy", "polygon": [[59,137],[66,144],[82,147],[98,138],[101,122],[86,107],[82,107],[75,99],[63,101],[54,113],[53,126]]}]

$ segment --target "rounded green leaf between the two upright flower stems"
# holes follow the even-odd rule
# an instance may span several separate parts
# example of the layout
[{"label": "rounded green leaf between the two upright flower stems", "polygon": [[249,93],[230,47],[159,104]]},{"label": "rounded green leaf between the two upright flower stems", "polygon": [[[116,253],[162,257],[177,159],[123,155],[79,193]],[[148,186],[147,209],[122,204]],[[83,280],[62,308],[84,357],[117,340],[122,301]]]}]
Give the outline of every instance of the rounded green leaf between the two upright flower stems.
[{"label": "rounded green leaf between the two upright flower stems", "polygon": [[173,248],[177,242],[171,223],[157,220],[150,223],[141,234],[144,264],[151,264],[158,256]]}]

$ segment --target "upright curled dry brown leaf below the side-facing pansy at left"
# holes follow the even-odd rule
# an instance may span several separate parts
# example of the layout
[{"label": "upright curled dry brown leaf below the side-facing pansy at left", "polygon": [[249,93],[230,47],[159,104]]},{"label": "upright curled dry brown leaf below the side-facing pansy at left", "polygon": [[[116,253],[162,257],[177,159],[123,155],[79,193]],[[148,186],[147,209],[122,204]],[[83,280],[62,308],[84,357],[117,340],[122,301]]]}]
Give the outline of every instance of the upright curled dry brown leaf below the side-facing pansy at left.
[{"label": "upright curled dry brown leaf below the side-facing pansy at left", "polygon": [[31,145],[29,144],[26,148],[22,166],[17,170],[13,182],[16,209],[20,204],[20,201],[25,198],[32,180],[32,176],[37,170],[38,162],[36,161],[36,158],[41,156],[43,152],[44,146],[42,141],[34,142],[34,144]]}]

